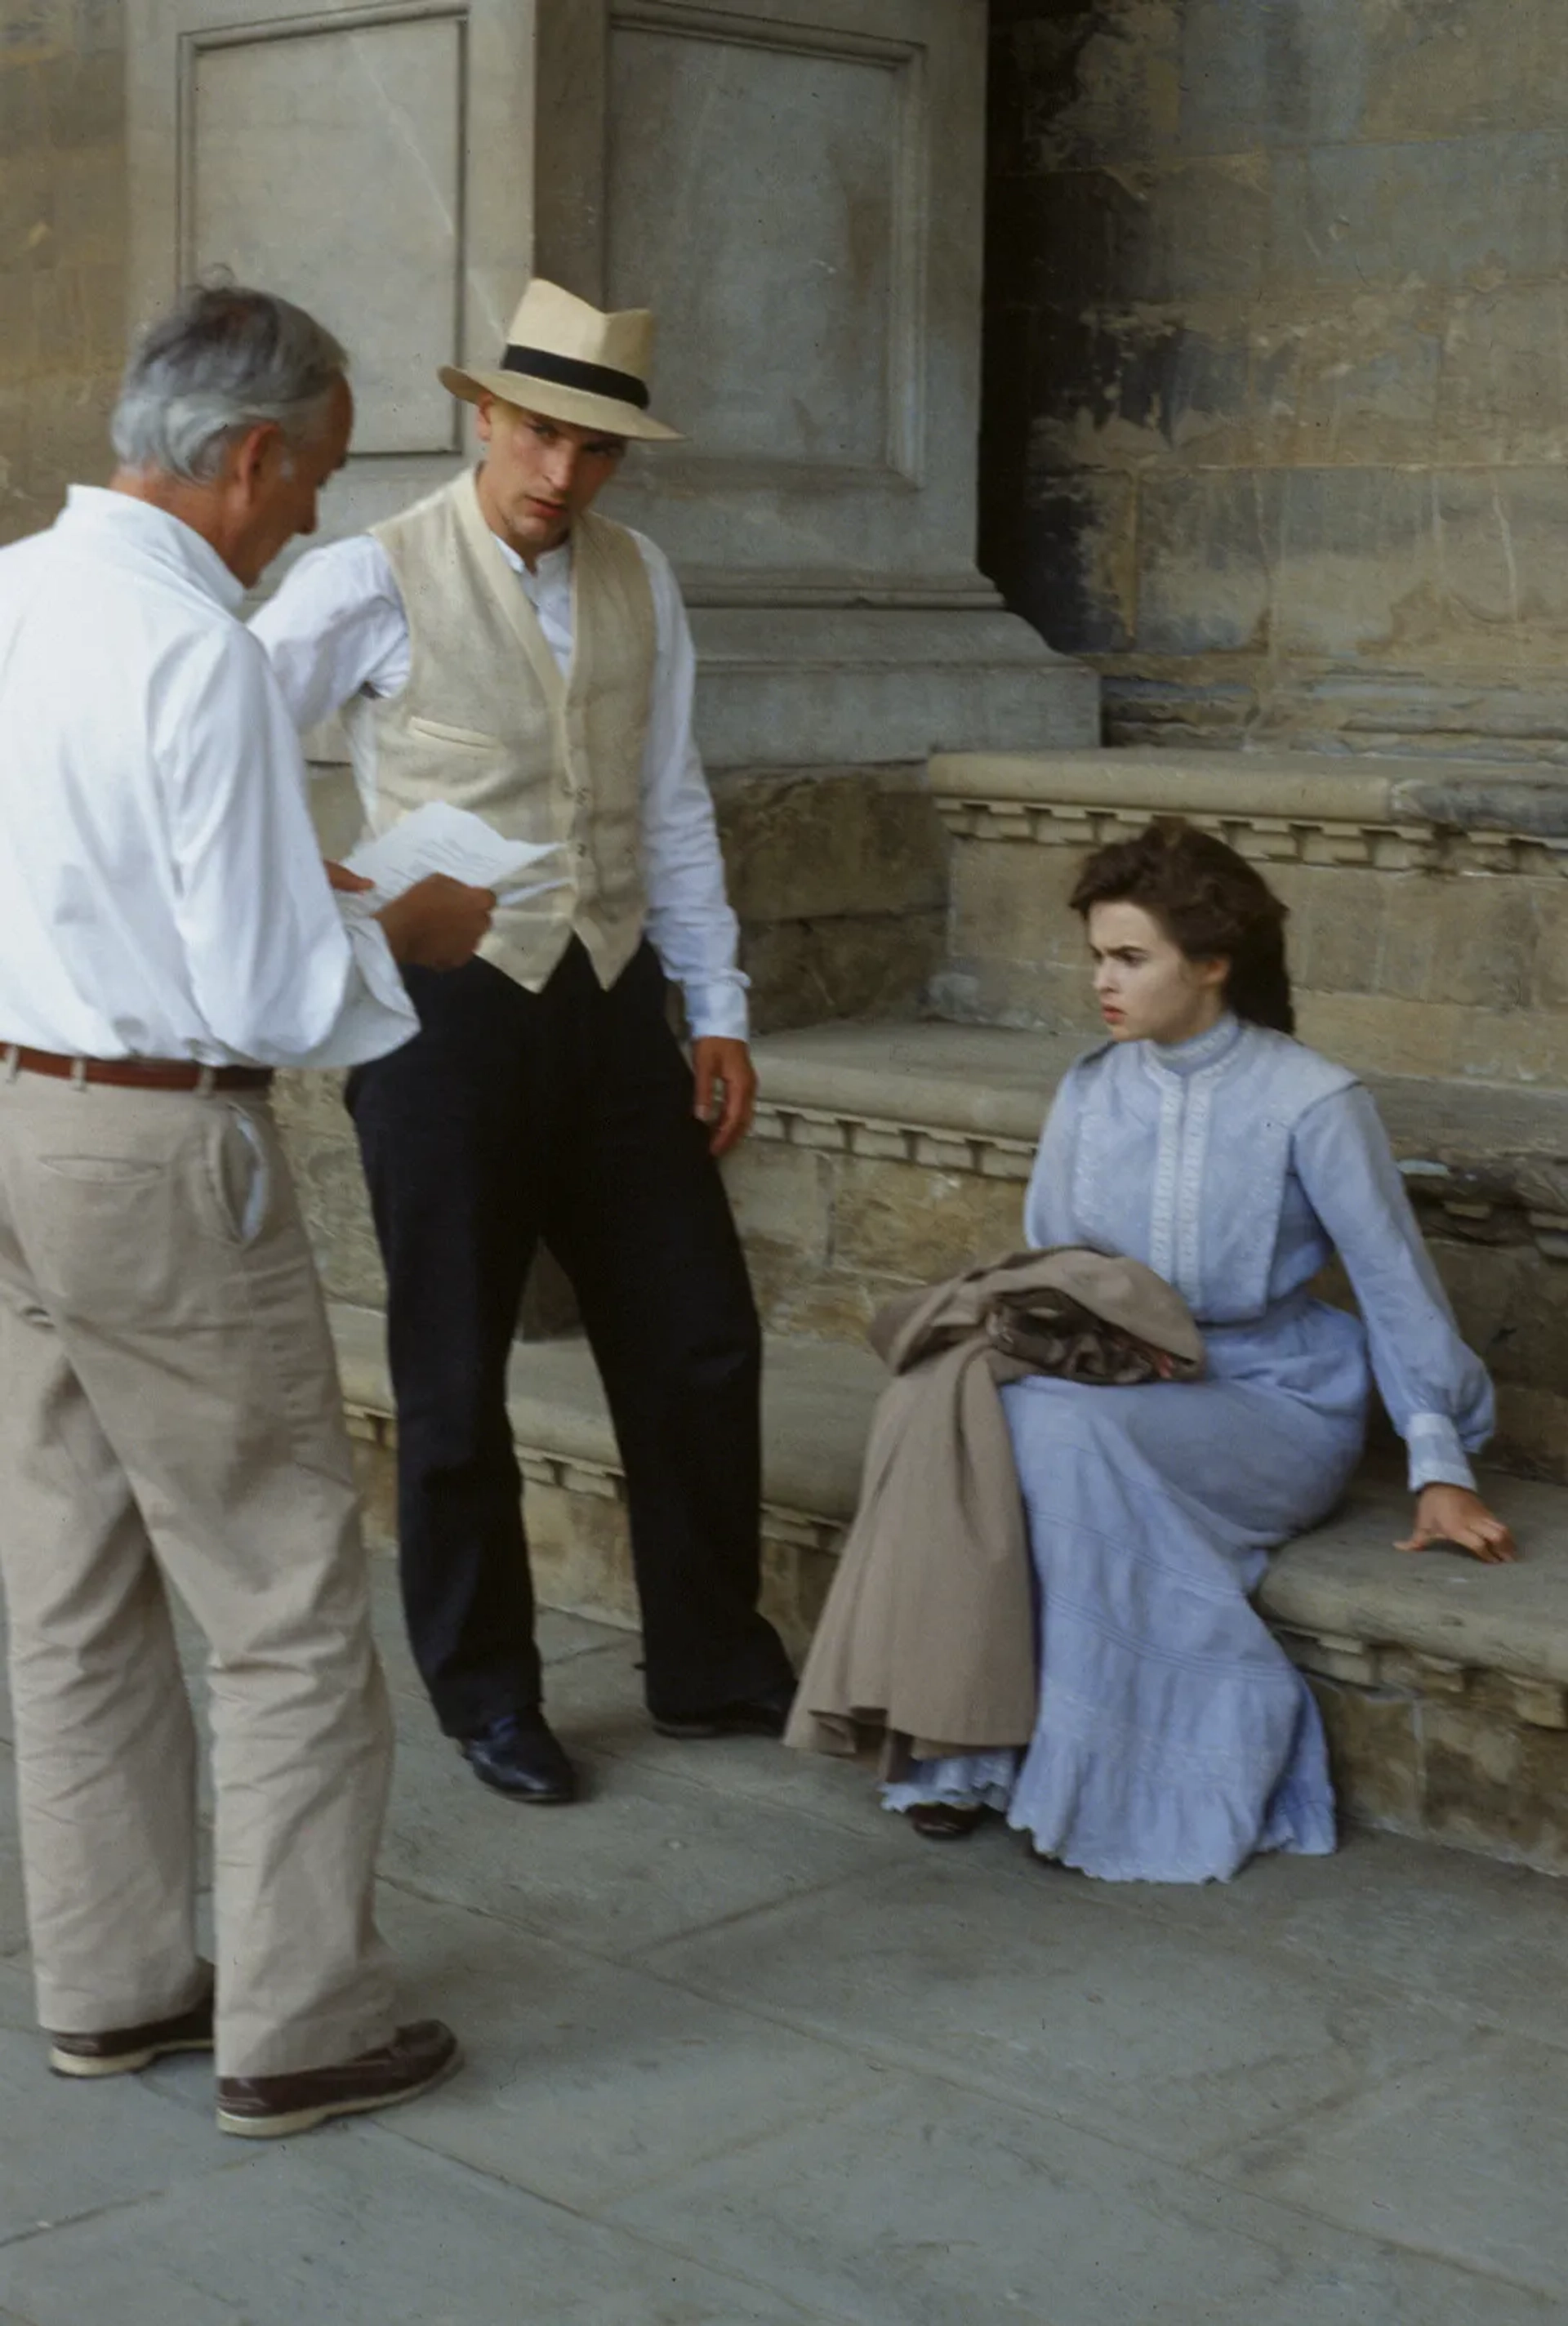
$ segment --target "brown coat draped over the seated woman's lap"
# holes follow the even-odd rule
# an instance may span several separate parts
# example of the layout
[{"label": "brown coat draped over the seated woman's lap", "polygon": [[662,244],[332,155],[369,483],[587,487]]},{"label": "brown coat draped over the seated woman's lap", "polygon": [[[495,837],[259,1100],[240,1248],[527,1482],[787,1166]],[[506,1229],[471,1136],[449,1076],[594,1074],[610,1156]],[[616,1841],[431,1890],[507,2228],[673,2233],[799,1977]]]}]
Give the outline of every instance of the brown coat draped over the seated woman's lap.
[{"label": "brown coat draped over the seated woman's lap", "polygon": [[1105,1386],[1196,1379],[1203,1337],[1140,1261],[1019,1251],[905,1293],[870,1328],[893,1382],[812,1640],[786,1742],[884,1770],[1026,1744],[1035,1726],[1028,1535],[998,1389],[1031,1372]]}]

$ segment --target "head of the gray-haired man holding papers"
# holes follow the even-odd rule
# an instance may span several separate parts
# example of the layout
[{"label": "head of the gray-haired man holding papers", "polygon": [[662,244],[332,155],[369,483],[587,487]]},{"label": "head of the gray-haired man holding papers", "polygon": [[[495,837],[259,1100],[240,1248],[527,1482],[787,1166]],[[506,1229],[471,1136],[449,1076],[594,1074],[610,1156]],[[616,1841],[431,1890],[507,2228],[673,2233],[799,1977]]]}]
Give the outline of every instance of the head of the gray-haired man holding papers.
[{"label": "head of the gray-haired man holding papers", "polygon": [[114,486],[200,533],[256,582],[342,468],[354,426],[347,356],[272,291],[202,284],[135,344],[109,433]]}]

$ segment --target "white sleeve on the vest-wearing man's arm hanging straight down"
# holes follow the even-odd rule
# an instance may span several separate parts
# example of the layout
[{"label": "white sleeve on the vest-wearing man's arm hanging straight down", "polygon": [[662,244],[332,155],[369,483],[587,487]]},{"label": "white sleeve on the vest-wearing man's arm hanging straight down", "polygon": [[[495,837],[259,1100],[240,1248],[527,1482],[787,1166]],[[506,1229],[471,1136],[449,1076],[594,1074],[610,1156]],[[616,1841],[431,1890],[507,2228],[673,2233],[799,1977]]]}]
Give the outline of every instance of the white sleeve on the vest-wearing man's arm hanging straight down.
[{"label": "white sleeve on the vest-wearing man's arm hanging straight down", "polygon": [[747,1040],[747,979],[737,968],[740,923],[724,886],[714,800],[703,775],[691,707],[696,651],[668,558],[637,535],[654,588],[656,665],[642,747],[642,872],[647,933],[686,1000],[693,1040]]}]

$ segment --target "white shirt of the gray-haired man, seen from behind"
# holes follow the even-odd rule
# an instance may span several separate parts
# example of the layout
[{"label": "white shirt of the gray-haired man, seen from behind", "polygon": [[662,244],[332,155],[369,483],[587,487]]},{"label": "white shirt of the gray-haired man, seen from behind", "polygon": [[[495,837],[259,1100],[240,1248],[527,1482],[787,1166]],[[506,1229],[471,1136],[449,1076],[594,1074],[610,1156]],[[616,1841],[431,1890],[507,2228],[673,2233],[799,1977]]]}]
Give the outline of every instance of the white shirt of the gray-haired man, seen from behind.
[{"label": "white shirt of the gray-haired man, seen from behind", "polygon": [[240,598],[177,516],[95,486],[0,549],[0,1042],[351,1065],[419,1030],[335,905]]}]

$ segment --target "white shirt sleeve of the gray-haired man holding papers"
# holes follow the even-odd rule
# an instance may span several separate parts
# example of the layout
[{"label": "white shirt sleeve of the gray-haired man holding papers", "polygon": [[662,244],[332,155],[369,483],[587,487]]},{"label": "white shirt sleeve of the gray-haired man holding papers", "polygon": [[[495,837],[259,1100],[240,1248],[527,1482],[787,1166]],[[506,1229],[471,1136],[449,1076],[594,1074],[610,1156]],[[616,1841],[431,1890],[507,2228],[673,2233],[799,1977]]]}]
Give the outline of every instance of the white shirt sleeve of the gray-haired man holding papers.
[{"label": "white shirt sleeve of the gray-haired man holding papers", "polygon": [[244,630],[181,656],[154,721],[174,919],[212,1040],[261,1065],[354,1065],[419,1030],[386,937],[344,923],[305,805],[300,744]]}]

